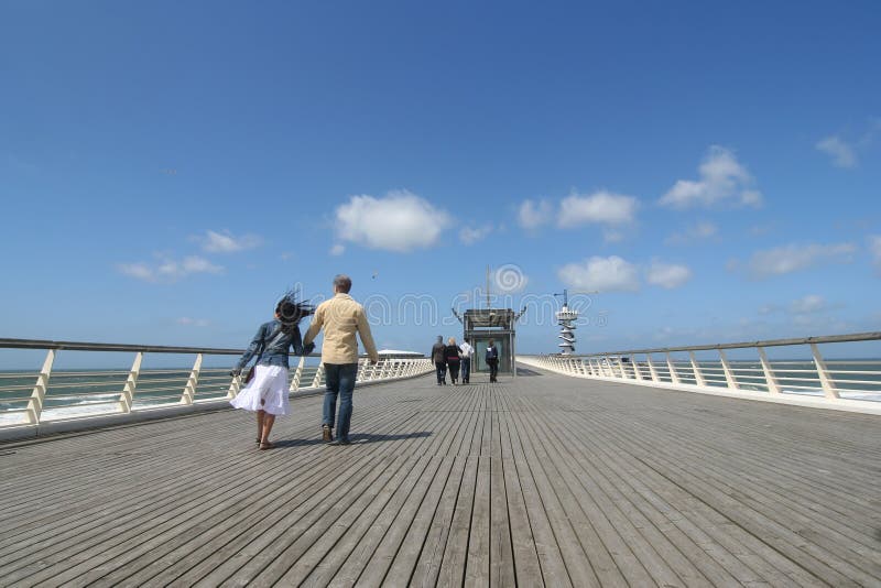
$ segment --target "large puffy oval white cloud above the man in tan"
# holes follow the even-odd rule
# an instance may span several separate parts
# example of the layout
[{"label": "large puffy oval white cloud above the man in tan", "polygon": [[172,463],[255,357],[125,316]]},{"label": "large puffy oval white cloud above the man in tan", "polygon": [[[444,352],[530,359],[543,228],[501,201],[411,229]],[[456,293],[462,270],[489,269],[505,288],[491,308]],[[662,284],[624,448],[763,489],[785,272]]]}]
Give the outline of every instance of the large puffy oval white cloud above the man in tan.
[{"label": "large puffy oval white cloud above the man in tan", "polygon": [[450,224],[446,211],[407,190],[352,196],[336,209],[339,239],[400,253],[432,247]]}]

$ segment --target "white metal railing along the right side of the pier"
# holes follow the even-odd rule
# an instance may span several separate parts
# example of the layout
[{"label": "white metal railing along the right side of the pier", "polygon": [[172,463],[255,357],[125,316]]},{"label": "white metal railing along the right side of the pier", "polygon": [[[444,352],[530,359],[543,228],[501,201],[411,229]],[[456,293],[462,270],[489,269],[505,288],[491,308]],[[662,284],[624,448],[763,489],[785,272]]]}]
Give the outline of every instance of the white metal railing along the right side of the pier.
[{"label": "white metal railing along the right side of the pier", "polygon": [[[845,357],[845,344],[872,347],[881,358],[881,333],[802,339],[629,349],[578,356],[518,356],[518,361],[566,375],[704,392],[737,392],[771,400],[813,398],[830,406],[881,410],[881,359]],[[766,349],[787,359],[771,360]],[[737,359],[729,357],[737,355]],[[866,351],[861,351],[866,353]],[[700,355],[701,357],[698,357]],[[803,357],[804,359],[794,359]]]}]

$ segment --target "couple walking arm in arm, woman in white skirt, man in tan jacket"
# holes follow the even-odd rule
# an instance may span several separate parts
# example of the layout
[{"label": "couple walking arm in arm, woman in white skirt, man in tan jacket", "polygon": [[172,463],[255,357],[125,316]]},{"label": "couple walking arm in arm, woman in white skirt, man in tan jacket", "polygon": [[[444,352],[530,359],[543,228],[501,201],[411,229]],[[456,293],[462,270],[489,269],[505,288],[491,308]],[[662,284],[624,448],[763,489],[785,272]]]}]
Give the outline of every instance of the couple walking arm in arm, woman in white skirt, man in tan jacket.
[{"label": "couple walking arm in arm, woman in white skirt, man in tan jacket", "polygon": [[[251,345],[242,353],[232,370],[232,375],[241,374],[242,368],[257,355],[257,363],[249,374],[248,385],[230,401],[236,409],[257,413],[257,443],[261,449],[271,449],[269,440],[275,416],[290,412],[287,399],[287,375],[290,370],[289,349],[302,356],[315,349],[315,337],[324,328],[322,363],[325,370],[326,392],[322,414],[322,438],[331,445],[349,444],[351,424],[352,393],[358,374],[358,341],[360,335],[371,363],[379,361],[370,325],[363,306],[349,295],[351,280],[339,274],[334,277],[334,297],[323,302],[317,308],[296,301],[286,294],[275,305],[275,317],[260,326]],[[306,336],[301,339],[300,322],[314,314]],[[339,399],[339,414],[336,414]],[[334,438],[334,425],[337,438]]]}]

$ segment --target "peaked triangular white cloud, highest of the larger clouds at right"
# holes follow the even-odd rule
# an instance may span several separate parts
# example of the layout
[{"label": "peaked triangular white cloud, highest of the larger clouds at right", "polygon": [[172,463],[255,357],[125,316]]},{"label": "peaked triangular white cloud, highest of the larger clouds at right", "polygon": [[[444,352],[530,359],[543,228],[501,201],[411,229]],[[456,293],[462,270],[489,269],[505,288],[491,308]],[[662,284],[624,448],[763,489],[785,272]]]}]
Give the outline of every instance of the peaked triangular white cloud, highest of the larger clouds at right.
[{"label": "peaked triangular white cloud, highest of the larger clouds at right", "polygon": [[709,148],[698,167],[699,179],[679,179],[661,198],[662,206],[689,208],[733,202],[760,206],[762,194],[753,187],[753,178],[735,154],[721,146]]}]

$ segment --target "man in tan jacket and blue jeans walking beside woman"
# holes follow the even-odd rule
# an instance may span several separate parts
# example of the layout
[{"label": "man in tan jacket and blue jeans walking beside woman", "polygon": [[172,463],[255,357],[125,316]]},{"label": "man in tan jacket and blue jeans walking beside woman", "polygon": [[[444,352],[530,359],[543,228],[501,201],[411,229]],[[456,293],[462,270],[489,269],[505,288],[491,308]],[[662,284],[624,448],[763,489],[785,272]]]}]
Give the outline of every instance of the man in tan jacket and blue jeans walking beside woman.
[{"label": "man in tan jacket and blue jeans walking beside woman", "polygon": [[[303,338],[307,347],[324,327],[322,345],[322,363],[324,363],[327,391],[324,393],[324,413],[322,415],[322,438],[333,445],[349,444],[349,424],[351,423],[351,396],[355,391],[355,377],[358,374],[358,341],[355,334],[361,336],[365,351],[370,362],[379,361],[377,346],[370,334],[365,307],[349,296],[351,279],[339,274],[334,277],[334,297],[325,301],[315,309],[315,318]],[[334,440],[334,415],[337,396],[339,396],[339,427]]]}]

